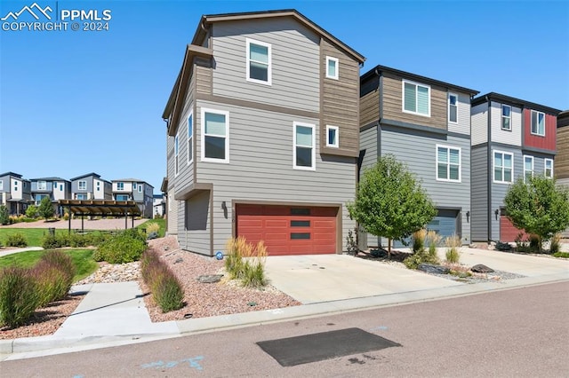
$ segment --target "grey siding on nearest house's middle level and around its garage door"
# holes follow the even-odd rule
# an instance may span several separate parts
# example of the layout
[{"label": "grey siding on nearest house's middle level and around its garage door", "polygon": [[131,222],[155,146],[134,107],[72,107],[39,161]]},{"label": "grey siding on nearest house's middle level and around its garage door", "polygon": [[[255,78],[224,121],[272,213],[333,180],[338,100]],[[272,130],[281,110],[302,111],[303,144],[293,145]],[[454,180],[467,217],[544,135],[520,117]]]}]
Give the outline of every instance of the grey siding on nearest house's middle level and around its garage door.
[{"label": "grey siding on nearest house's middle level and around its garage door", "polygon": [[[231,209],[227,217],[221,202],[236,200],[342,204],[342,249],[355,222],[345,207],[356,194],[357,159],[319,154],[318,121],[240,106],[198,101],[196,136],[201,134],[201,106],[229,112],[230,163],[199,161],[197,181],[213,184],[215,250],[223,249],[232,234]],[[293,169],[293,122],[315,125],[316,170]],[[199,140],[199,139],[198,139]],[[270,141],[270,143],[268,143]],[[197,146],[200,156],[200,146]],[[254,188],[254,190],[252,190]],[[229,206],[228,206],[229,208]]]}]

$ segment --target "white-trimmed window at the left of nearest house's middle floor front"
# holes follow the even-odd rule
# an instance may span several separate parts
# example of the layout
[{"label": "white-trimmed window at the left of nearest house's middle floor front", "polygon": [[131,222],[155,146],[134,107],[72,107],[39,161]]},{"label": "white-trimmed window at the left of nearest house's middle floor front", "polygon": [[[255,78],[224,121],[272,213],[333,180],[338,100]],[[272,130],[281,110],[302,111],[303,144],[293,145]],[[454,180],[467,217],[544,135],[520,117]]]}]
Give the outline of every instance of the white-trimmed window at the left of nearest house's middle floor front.
[{"label": "white-trimmed window at the left of nearest house's middle floor front", "polygon": [[229,112],[202,108],[202,161],[229,162]]}]

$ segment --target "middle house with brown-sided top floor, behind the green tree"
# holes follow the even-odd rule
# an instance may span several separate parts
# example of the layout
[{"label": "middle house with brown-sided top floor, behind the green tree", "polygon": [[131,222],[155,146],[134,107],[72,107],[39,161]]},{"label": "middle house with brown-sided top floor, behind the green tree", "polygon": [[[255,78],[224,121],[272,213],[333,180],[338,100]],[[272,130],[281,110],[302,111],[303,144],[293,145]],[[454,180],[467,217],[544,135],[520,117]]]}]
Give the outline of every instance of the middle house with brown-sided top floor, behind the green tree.
[{"label": "middle house with brown-sided top floor, behind the green tree", "polygon": [[[470,99],[478,92],[384,66],[362,75],[360,88],[360,174],[393,154],[435,202],[437,216],[427,228],[468,244]],[[387,241],[366,237],[369,247]]]}]

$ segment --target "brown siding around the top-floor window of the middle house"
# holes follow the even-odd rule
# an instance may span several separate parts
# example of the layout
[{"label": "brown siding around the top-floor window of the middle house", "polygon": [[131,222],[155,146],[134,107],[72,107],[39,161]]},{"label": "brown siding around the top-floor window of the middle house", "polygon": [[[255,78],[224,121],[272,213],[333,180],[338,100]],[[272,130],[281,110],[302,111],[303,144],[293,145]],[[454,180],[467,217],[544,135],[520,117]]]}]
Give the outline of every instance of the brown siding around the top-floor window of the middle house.
[{"label": "brown siding around the top-floor window of the middle house", "polygon": [[[383,74],[383,117],[389,120],[413,123],[446,130],[446,89],[430,86],[430,117],[403,112],[403,78],[390,73]],[[413,82],[413,80],[411,80]],[[414,82],[413,82],[414,83]]]}]

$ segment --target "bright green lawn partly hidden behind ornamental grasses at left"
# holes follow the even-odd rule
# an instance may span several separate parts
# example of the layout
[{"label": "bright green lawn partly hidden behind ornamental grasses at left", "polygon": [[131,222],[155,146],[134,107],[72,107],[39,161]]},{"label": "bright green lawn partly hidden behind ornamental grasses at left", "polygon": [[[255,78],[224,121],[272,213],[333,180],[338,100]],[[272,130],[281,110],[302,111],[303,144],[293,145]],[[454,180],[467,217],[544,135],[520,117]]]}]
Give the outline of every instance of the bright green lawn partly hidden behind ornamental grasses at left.
[{"label": "bright green lawn partly hidden behind ornamental grasses at left", "polygon": [[[30,268],[34,266],[44,253],[50,249],[41,251],[18,252],[12,255],[0,257],[0,269],[7,266],[20,266]],[[92,259],[93,249],[63,249],[63,252],[73,259],[77,272],[73,281],[82,280],[92,272],[95,272],[99,265]]]}]

